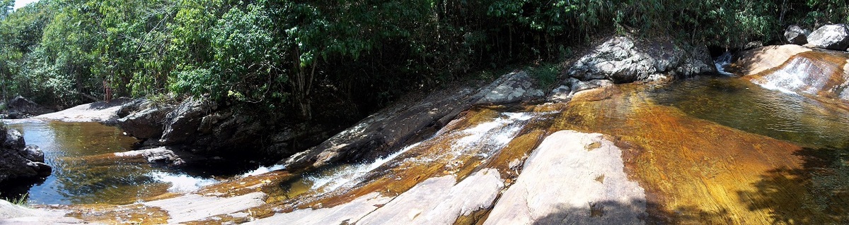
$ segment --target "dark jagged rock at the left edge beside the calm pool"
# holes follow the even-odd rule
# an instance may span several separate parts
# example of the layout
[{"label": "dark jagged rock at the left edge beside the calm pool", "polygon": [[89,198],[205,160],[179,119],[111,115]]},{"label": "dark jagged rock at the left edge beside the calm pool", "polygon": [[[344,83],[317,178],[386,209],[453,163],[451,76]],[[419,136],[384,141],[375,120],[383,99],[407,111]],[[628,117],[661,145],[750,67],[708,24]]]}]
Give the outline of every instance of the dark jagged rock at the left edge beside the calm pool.
[{"label": "dark jagged rock at the left edge beside the calm pool", "polygon": [[26,145],[14,129],[0,127],[0,184],[10,179],[44,178],[52,168],[44,164],[44,153],[36,145]]}]

